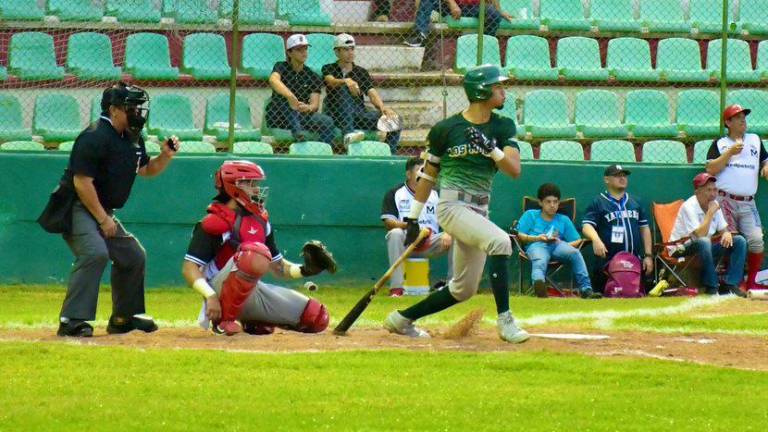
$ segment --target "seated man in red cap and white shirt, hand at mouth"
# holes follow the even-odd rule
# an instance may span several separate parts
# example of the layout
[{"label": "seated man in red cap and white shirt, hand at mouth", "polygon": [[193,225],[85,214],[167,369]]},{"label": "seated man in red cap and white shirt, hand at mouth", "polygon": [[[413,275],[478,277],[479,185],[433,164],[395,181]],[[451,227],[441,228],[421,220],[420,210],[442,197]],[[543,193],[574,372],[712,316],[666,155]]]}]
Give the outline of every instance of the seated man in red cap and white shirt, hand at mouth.
[{"label": "seated man in red cap and white shirt, hand at mouth", "polygon": [[[739,289],[744,278],[744,258],[747,241],[739,234],[728,231],[720,205],[717,203],[717,179],[707,173],[693,178],[695,190],[680,207],[670,241],[688,237],[681,249],[673,256],[697,255],[701,260],[701,282],[707,294],[735,294],[746,297]],[[713,236],[715,237],[713,239]],[[719,237],[719,238],[718,238]],[[721,284],[717,277],[717,261],[721,256],[729,257],[728,273]]]}]

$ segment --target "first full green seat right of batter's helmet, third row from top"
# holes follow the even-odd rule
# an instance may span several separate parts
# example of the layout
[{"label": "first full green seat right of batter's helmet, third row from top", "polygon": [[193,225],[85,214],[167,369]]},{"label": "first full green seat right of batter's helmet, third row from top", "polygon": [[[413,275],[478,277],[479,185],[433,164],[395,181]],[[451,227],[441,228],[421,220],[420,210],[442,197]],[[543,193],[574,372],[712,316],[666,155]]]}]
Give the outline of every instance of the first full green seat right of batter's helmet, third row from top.
[{"label": "first full green seat right of batter's helmet, third row from top", "polygon": [[576,125],[568,118],[568,101],[559,90],[535,90],[523,105],[523,123],[534,137],[572,138]]}]

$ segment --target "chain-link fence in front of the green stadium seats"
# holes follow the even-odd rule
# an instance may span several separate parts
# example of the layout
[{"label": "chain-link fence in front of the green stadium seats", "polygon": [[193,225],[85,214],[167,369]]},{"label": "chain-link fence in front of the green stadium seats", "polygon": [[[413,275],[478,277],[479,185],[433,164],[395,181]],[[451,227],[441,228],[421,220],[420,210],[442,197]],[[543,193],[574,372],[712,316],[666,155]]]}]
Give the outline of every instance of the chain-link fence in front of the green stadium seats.
[{"label": "chain-link fence in front of the green stadium seats", "polygon": [[2,149],[70,149],[123,80],[150,94],[150,151],[413,155],[480,63],[511,78],[525,159],[702,163],[725,103],[768,132],[768,0],[3,0],[0,18]]}]

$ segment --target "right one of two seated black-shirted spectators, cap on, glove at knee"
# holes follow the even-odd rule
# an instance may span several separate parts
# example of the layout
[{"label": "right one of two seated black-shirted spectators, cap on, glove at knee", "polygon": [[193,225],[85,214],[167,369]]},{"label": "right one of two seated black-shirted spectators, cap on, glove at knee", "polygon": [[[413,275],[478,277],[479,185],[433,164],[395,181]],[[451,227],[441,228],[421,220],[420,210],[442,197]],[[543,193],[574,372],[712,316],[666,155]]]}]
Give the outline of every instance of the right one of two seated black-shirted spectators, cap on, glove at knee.
[{"label": "right one of two seated black-shirted spectators, cap on, glove at knee", "polygon": [[[346,33],[336,36],[333,51],[338,61],[323,66],[328,96],[324,104],[336,126],[346,135],[354,130],[375,130],[383,115],[397,121],[397,114],[384,105],[367,70],[355,64],[355,38]],[[365,108],[365,96],[377,111]],[[387,144],[394,153],[400,142],[400,130],[388,131]]]}]

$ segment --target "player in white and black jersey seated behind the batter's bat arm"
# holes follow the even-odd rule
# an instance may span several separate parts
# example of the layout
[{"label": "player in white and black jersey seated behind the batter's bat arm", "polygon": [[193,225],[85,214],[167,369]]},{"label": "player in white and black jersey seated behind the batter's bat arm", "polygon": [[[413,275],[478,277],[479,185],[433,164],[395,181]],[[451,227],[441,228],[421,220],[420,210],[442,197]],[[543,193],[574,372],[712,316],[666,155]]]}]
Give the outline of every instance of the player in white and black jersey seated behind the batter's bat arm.
[{"label": "player in white and black jersey seated behind the batter's bat arm", "polygon": [[[389,265],[397,261],[397,258],[405,251],[405,229],[408,225],[404,222],[411,211],[411,205],[415,199],[414,191],[418,181],[418,173],[424,162],[418,157],[412,157],[405,163],[405,183],[390,189],[384,195],[381,204],[381,220],[387,228],[387,253]],[[438,257],[445,255],[451,248],[451,236],[446,232],[440,232],[437,224],[437,192],[431,191],[426,205],[419,217],[419,226],[429,228],[432,235],[426,240],[427,246],[422,246],[421,251],[414,252],[411,256]],[[451,260],[448,260],[448,279],[451,278]],[[403,267],[398,267],[392,272],[389,279],[389,295],[400,297],[403,295]]]}]

